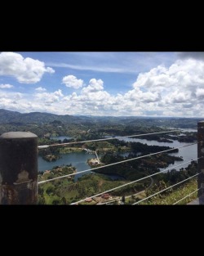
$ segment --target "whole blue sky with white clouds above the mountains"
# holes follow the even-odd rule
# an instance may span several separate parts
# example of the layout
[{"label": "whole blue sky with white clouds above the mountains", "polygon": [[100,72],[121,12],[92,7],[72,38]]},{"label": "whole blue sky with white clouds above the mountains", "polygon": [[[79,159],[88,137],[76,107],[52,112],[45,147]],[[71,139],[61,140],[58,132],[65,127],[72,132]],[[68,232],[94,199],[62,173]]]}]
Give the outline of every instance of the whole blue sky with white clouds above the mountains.
[{"label": "whole blue sky with white clouds above the mountains", "polygon": [[0,52],[0,109],[204,117],[204,52]]}]

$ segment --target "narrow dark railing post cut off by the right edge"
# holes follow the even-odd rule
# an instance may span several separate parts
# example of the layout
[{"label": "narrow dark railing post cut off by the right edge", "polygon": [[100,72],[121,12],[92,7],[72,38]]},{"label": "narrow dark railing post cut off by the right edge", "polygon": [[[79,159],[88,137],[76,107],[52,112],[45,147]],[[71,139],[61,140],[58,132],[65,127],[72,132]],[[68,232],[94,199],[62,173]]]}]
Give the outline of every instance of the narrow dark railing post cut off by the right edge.
[{"label": "narrow dark railing post cut off by the right edge", "polygon": [[204,204],[204,121],[197,123],[197,172],[200,173],[197,176],[197,196],[199,198],[199,204]]}]

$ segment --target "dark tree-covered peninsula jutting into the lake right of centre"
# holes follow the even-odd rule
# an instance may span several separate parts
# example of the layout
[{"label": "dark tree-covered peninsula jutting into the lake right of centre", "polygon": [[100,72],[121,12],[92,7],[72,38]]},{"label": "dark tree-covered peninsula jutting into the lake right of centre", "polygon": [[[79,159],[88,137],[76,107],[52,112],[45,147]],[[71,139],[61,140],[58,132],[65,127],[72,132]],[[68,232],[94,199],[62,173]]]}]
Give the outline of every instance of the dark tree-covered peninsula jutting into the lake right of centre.
[{"label": "dark tree-covered peninsula jutting into the lake right of centre", "polygon": [[[116,146],[116,141],[113,140],[114,145]],[[131,153],[123,157],[122,155],[113,152],[105,153],[100,161],[104,164],[112,164],[116,162],[121,162],[122,160],[136,158],[138,153],[140,152],[140,156],[149,155],[151,153],[157,153],[161,150],[170,150],[171,148],[168,146],[148,146],[146,144],[142,144],[140,142],[125,142],[118,141],[120,143],[126,145],[126,147],[131,149]],[[117,148],[117,147],[116,147]],[[172,151],[178,151],[172,149]],[[171,150],[169,151],[171,152]],[[141,177],[145,177],[146,173],[158,173],[159,168],[166,168],[169,164],[174,164],[175,160],[183,161],[180,157],[175,157],[173,155],[168,155],[166,153],[152,155],[147,158],[135,159],[133,161],[128,161],[122,164],[113,165],[111,167],[105,167],[98,170],[95,170],[96,173],[104,173],[104,174],[118,174],[122,177],[125,177],[127,180],[133,181],[139,179]]]}]

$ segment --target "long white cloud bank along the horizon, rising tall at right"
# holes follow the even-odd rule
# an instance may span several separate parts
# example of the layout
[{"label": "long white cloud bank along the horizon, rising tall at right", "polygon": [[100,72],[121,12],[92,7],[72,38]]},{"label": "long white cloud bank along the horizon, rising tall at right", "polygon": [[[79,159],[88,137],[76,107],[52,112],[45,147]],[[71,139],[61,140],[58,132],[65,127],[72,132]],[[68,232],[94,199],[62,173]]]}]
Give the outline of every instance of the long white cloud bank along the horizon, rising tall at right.
[{"label": "long white cloud bank along the horizon, rising tall at right", "polygon": [[24,111],[62,115],[204,115],[204,62],[200,60],[189,58],[175,61],[169,67],[158,65],[140,73],[131,90],[117,95],[104,90],[102,79],[90,79],[86,87],[82,80],[78,84],[79,80],[69,76],[69,86],[73,81],[73,88],[81,88],[78,93],[69,95],[64,95],[60,89],[43,92],[43,88],[37,88],[39,93],[34,94],[30,105],[30,99],[24,95],[1,92],[0,108],[6,105],[15,108],[17,102],[20,110],[24,107]]}]

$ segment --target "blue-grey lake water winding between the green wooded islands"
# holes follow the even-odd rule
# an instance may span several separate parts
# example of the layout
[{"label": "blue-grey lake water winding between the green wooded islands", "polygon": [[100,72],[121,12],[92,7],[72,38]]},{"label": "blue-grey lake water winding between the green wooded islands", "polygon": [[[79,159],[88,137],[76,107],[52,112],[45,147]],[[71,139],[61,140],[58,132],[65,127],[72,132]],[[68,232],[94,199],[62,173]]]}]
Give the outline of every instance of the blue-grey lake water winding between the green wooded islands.
[{"label": "blue-grey lake water winding between the green wooded islands", "polygon": [[[197,132],[196,129],[182,129],[182,131],[185,132]],[[52,137],[54,138],[54,137]],[[64,140],[64,138],[70,139],[71,137],[55,137],[55,140]],[[179,141],[173,141],[173,143],[168,142],[157,142],[157,141],[147,141],[145,139],[139,139],[139,138],[132,138],[132,137],[124,137],[120,138],[119,140],[124,141],[134,141],[134,142],[140,142],[147,144],[149,146],[170,146],[170,147],[179,147],[179,146],[185,146],[181,149],[179,149],[178,153],[170,153],[170,155],[175,156],[182,156],[184,161],[175,161],[175,164],[170,164],[166,169],[169,168],[175,168],[175,165],[182,164],[186,161],[190,161],[191,159],[197,158],[197,144],[193,146],[186,146],[191,143],[185,143],[185,142],[179,142]],[[129,153],[122,153],[123,156],[129,155]],[[38,156],[38,171],[44,172],[45,170],[51,170],[56,165],[65,165],[65,164],[72,164],[76,169],[78,174],[75,175],[74,180],[77,181],[78,177],[82,177],[82,175],[86,173],[91,173],[91,171],[86,173],[80,173],[84,170],[91,169],[90,166],[86,163],[87,159],[95,158],[95,155],[93,154],[87,154],[86,152],[80,152],[80,153],[69,153],[69,154],[61,154],[61,158],[57,159],[55,162],[47,162],[42,159],[41,156]],[[189,164],[189,163],[188,163]],[[188,166],[188,164],[182,164],[179,167],[175,168],[177,171],[180,170],[180,168],[185,168]],[[160,168],[160,170],[164,170],[165,168]],[[117,176],[109,176],[112,179],[117,179]]]}]

